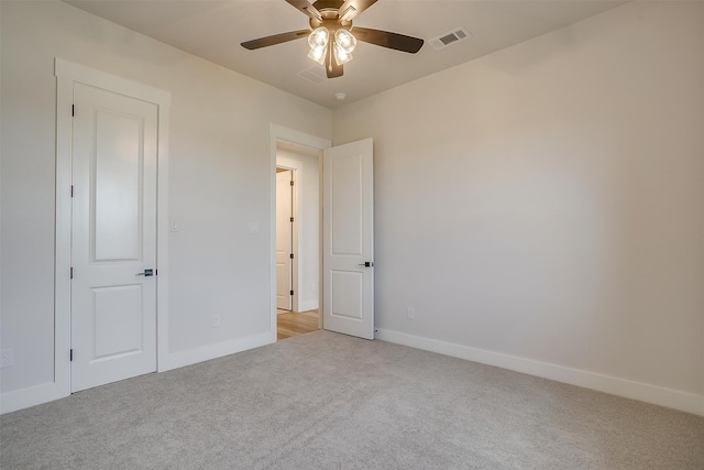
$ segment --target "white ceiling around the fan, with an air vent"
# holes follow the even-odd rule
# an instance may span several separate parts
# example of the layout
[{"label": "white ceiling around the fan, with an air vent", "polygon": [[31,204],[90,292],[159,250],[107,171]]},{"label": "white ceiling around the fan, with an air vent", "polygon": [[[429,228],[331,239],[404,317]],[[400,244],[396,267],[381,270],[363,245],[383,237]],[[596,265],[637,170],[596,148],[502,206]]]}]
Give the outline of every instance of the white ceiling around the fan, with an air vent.
[{"label": "white ceiling around the fan, with an air vent", "polygon": [[[256,51],[240,43],[308,28],[284,0],[66,0],[155,40],[336,108],[592,17],[618,0],[380,0],[354,24],[426,40],[417,54],[359,43],[344,75],[314,84],[298,76],[322,66],[305,39]],[[429,40],[464,26],[469,40],[436,50]],[[344,92],[344,101],[336,100]]]}]

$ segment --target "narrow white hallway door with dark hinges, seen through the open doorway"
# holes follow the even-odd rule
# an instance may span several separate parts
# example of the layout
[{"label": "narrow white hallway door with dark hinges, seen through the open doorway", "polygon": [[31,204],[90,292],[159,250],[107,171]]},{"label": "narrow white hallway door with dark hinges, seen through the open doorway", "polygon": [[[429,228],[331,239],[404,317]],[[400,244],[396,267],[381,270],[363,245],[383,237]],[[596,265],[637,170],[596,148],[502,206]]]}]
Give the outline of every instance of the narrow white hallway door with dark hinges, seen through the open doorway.
[{"label": "narrow white hallway door with dark hinges, seen through the open doorway", "polygon": [[294,252],[293,172],[276,173],[276,308],[292,309]]}]

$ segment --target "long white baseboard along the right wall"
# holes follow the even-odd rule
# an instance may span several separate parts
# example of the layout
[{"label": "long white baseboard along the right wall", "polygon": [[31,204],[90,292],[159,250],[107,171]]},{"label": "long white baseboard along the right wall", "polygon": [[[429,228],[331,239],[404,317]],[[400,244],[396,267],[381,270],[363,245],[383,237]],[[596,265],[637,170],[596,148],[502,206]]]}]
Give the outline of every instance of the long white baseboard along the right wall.
[{"label": "long white baseboard along the right wall", "polygon": [[516,356],[502,354],[468,346],[455,345],[436,339],[422,338],[404,332],[378,329],[376,339],[409,346],[426,351],[465,359],[468,361],[495,365],[558,382],[579,385],[585,389],[610,393],[612,395],[634,398],[654,405],[667,406],[686,413],[704,416],[704,395],[681,392],[647,383],[635,382],[610,375],[598,374],[579,369],[534,361]]}]

